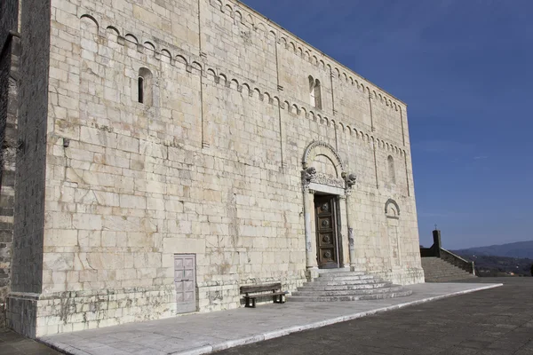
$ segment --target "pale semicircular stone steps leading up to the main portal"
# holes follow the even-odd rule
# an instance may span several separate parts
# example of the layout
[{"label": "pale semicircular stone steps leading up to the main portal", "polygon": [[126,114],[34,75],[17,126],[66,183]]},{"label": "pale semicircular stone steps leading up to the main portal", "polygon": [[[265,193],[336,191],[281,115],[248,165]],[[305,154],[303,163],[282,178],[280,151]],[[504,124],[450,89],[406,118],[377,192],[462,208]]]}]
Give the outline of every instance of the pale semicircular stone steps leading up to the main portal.
[{"label": "pale semicircular stone steps leading up to the main portal", "polygon": [[319,277],[306,282],[304,286],[287,297],[289,302],[334,302],[376,300],[382,298],[410,296],[410,289],[367,275],[364,272],[350,272],[346,269],[321,270]]}]

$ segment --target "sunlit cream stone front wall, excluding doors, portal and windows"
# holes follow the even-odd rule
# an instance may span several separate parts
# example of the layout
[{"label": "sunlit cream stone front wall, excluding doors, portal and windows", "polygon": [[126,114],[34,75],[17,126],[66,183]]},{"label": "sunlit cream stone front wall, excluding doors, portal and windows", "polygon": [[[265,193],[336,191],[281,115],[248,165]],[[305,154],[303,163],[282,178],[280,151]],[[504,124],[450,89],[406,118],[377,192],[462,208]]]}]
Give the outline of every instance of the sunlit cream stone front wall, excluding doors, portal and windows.
[{"label": "sunlit cream stone front wall, excluding doors, portal and windows", "polygon": [[[151,106],[137,102],[141,67],[153,75]],[[310,106],[309,75],[322,109]],[[52,0],[48,97],[36,335],[174,315],[176,253],[196,255],[200,312],[239,307],[243,284],[296,289],[301,160],[314,140],[358,177],[358,268],[423,281],[405,104],[241,3]],[[400,207],[397,265],[389,199]],[[113,312],[91,320],[83,305],[48,307],[115,302],[101,292],[132,304],[102,305]]]}]

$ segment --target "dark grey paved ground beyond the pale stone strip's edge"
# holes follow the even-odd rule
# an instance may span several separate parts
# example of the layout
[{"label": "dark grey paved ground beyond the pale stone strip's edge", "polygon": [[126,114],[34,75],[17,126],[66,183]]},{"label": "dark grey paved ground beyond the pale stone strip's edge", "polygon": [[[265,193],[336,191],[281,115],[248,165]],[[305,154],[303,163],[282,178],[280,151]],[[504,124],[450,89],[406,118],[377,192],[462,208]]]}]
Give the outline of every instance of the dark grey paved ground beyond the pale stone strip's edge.
[{"label": "dark grey paved ground beyond the pale stone strip's edge", "polygon": [[217,355],[532,355],[533,278],[254,343]]}]

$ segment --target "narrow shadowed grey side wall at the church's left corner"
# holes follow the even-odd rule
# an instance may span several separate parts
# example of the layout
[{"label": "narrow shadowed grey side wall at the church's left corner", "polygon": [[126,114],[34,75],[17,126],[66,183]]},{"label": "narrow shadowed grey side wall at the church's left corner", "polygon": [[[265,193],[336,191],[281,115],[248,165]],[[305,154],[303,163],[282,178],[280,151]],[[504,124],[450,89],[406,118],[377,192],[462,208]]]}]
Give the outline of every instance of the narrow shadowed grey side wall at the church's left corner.
[{"label": "narrow shadowed grey side wall at the church's left corner", "polygon": [[7,302],[11,307],[8,327],[35,336],[36,303],[31,297],[41,293],[43,280],[50,1],[21,0],[20,6],[22,51],[12,253],[12,291],[17,294],[11,294]]}]

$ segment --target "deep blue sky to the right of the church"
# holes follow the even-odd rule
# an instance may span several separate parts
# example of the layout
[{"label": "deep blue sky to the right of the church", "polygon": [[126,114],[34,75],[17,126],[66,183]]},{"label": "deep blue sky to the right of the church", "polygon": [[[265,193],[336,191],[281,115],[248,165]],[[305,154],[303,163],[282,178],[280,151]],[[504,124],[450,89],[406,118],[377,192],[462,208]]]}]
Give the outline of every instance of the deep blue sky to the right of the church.
[{"label": "deep blue sky to the right of the church", "polygon": [[243,2],[409,105],[422,245],[533,240],[533,1]]}]

